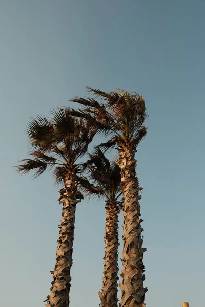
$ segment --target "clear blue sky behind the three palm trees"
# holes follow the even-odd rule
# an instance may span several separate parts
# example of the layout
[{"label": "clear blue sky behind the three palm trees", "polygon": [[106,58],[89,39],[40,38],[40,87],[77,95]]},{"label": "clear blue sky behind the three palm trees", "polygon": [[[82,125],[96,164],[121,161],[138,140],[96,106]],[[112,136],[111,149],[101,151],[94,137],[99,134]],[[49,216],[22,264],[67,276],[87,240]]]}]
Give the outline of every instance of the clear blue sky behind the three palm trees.
[{"label": "clear blue sky behind the three palm trees", "polygon": [[[26,124],[86,85],[146,100],[137,173],[147,306],[202,306],[204,14],[203,0],[0,1],[2,307],[43,307],[55,264],[59,188],[51,173],[31,180],[12,169],[29,151]],[[78,205],[71,307],[99,303],[104,219],[103,201]]]}]

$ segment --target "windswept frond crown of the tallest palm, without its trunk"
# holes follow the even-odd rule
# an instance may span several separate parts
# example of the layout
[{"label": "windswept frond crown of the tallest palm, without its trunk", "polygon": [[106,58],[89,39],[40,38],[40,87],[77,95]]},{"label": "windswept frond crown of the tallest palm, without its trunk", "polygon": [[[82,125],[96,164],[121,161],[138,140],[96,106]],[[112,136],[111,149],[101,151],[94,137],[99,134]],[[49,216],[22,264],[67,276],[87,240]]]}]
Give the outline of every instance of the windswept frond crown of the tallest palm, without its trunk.
[{"label": "windswept frond crown of the tallest palm, without its trunk", "polygon": [[104,103],[99,103],[94,98],[74,98],[71,101],[84,105],[84,108],[72,111],[72,114],[86,119],[90,128],[94,127],[111,135],[110,140],[100,145],[104,150],[121,143],[136,147],[147,132],[144,126],[147,114],[142,96],[125,90],[105,93],[90,87],[87,89],[89,93],[103,99]]}]

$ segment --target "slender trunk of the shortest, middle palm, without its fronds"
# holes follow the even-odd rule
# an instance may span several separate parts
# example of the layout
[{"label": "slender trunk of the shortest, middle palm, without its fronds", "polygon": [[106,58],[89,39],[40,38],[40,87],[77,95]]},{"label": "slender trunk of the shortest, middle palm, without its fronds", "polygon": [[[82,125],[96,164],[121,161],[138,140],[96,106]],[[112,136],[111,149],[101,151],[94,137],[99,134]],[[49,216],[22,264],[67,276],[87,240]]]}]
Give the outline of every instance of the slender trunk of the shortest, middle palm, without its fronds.
[{"label": "slender trunk of the shortest, middle palm, without its fronds", "polygon": [[118,280],[118,207],[106,202],[106,234],[103,288],[99,292],[101,307],[117,307]]}]

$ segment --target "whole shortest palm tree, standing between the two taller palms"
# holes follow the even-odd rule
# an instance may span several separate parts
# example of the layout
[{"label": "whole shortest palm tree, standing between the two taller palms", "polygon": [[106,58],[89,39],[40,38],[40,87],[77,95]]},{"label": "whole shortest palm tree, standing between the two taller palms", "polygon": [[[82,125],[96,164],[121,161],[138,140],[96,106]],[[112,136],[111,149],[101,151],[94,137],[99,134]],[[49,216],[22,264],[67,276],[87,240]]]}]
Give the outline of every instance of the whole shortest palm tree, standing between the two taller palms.
[{"label": "whole shortest palm tree, standing between the two taller palms", "polygon": [[103,287],[99,292],[102,307],[117,307],[118,280],[118,213],[121,209],[120,168],[117,160],[110,163],[98,148],[83,164],[89,171],[89,180],[79,179],[81,190],[88,196],[106,199],[105,257]]}]

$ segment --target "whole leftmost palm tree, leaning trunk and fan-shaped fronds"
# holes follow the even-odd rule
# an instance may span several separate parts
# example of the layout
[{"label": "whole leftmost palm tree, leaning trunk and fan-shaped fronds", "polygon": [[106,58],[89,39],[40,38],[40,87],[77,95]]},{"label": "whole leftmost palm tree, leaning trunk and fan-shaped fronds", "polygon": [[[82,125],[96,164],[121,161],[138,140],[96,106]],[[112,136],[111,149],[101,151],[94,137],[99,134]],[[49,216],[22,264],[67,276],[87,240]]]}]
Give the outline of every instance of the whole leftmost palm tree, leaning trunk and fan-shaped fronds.
[{"label": "whole leftmost palm tree, leaning trunk and fan-shaped fronds", "polygon": [[17,166],[20,173],[35,171],[34,177],[47,168],[54,167],[56,183],[63,184],[59,204],[63,205],[59,226],[56,264],[47,307],[68,307],[71,287],[73,239],[76,204],[83,199],[78,190],[77,176],[80,171],[76,161],[87,152],[94,133],[89,133],[82,120],[70,114],[69,108],[59,108],[51,120],[45,117],[31,119],[27,135],[32,147],[32,159],[22,160]]}]

